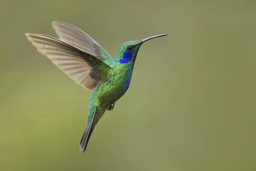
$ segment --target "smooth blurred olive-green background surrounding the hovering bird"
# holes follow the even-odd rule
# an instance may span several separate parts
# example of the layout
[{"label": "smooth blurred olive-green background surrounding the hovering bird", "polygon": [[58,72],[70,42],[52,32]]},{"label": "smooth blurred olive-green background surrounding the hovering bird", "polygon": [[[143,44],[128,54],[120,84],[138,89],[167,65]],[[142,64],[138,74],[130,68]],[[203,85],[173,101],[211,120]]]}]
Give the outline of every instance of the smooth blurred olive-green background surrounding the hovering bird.
[{"label": "smooth blurred olive-green background surrounding the hovering bird", "polygon": [[[114,58],[140,48],[128,92],[79,154],[91,92],[27,41],[54,20]],[[256,1],[1,0],[0,171],[255,171]]]}]

